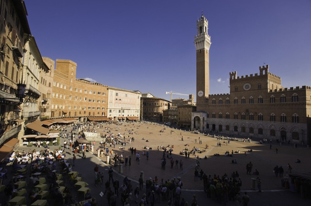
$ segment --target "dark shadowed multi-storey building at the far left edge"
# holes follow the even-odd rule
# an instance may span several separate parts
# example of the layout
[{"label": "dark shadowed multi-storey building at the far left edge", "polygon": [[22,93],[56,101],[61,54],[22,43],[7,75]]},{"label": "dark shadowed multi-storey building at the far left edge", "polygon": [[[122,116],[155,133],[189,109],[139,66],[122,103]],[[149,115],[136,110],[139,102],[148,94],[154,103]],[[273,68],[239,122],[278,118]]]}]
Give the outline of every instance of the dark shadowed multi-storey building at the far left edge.
[{"label": "dark shadowed multi-storey building at the far left edge", "polygon": [[24,1],[0,1],[0,144],[17,137],[22,129],[23,111],[16,94],[31,35],[26,15]]}]

